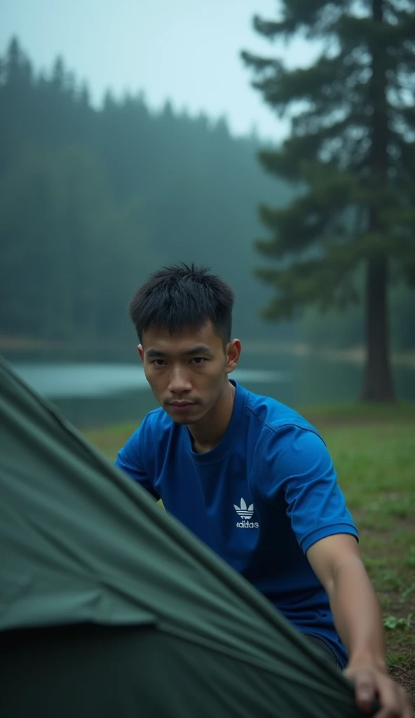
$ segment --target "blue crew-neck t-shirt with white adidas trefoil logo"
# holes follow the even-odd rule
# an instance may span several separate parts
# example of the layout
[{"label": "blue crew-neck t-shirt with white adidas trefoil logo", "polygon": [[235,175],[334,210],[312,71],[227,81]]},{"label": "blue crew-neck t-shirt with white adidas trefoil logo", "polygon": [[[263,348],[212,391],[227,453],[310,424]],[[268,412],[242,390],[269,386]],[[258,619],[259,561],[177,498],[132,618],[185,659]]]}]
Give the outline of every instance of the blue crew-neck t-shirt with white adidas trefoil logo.
[{"label": "blue crew-neck t-shirt with white adidas trefoil logo", "polygon": [[195,453],[187,426],[156,409],[116,465],[345,666],[327,593],[305,556],[325,536],[358,538],[330,454],[296,411],[233,384],[232,418],[214,449]]}]

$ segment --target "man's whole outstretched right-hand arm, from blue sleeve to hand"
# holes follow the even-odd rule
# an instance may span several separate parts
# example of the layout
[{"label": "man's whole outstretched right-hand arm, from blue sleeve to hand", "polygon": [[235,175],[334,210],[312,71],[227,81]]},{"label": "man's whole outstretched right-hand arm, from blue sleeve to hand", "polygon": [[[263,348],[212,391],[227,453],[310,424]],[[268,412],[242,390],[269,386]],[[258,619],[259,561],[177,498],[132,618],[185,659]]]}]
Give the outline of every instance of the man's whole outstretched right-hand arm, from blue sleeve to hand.
[{"label": "man's whole outstretched right-hand arm, from blue sleeve to hand", "polygon": [[274,429],[261,451],[261,491],[271,503],[284,496],[299,546],[327,591],[350,653],[345,674],[356,686],[358,707],[371,709],[378,694],[376,718],[411,718],[404,689],[386,673],[381,611],[322,438],[309,427],[286,424]]}]

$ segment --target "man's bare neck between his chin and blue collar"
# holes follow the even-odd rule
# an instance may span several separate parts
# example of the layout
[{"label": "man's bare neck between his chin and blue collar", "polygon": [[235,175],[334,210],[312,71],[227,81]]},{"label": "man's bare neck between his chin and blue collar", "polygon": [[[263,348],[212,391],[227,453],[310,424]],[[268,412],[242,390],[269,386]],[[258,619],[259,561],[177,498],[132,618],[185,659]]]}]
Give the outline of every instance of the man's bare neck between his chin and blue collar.
[{"label": "man's bare neck between his chin and blue collar", "polygon": [[211,451],[225,436],[232,418],[236,389],[228,381],[219,401],[197,424],[187,426],[192,436],[193,449],[198,454]]}]

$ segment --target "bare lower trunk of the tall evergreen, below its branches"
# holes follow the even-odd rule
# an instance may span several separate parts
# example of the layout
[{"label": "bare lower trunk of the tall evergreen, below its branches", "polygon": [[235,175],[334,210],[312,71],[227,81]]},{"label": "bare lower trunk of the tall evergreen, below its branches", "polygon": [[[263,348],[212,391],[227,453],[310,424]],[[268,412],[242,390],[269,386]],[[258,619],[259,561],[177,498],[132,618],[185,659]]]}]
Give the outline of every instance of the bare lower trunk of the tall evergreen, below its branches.
[{"label": "bare lower trunk of the tall evergreen, below its branches", "polygon": [[363,401],[395,401],[388,342],[388,261],[368,260],[366,269],[366,363]]}]

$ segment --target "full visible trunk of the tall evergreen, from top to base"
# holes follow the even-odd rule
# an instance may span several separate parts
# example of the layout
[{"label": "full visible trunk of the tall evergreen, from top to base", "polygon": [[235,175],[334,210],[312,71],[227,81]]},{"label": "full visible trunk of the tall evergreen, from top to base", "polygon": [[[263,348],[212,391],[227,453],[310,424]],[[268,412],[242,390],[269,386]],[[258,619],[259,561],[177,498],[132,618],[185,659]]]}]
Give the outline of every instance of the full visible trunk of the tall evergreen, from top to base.
[{"label": "full visible trunk of the tall evergreen, from top to base", "polygon": [[[372,0],[375,22],[383,22],[383,0]],[[369,211],[369,231],[385,231],[379,217],[379,204],[388,177],[388,106],[386,102],[386,48],[377,39],[370,47],[372,78],[370,94],[373,108],[371,132],[370,185],[376,200]],[[361,398],[363,401],[395,401],[388,331],[388,258],[373,254],[368,258],[365,296],[366,364]]]}]

